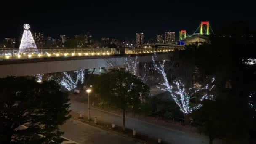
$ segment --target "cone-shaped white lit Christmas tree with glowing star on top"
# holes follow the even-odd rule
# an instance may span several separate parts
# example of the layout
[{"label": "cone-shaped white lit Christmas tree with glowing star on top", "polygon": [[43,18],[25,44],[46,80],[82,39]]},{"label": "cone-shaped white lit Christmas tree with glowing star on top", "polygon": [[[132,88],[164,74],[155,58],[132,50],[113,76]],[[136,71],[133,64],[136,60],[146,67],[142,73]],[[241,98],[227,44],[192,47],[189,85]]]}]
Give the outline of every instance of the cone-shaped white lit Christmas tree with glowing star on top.
[{"label": "cone-shaped white lit Christmas tree with glowing star on top", "polygon": [[19,46],[19,53],[38,53],[37,46],[30,32],[29,24],[24,24],[24,32]]}]

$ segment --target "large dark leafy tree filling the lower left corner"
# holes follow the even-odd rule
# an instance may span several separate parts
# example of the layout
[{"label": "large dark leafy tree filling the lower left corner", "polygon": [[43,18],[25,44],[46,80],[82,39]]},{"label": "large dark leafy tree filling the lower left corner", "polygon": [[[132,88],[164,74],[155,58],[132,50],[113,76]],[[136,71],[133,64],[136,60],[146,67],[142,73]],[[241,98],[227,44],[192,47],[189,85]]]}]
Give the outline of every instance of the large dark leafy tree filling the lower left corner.
[{"label": "large dark leafy tree filling the lower left corner", "polygon": [[58,126],[70,118],[68,101],[67,94],[54,81],[37,83],[33,77],[0,79],[0,143],[61,143],[63,132]]}]

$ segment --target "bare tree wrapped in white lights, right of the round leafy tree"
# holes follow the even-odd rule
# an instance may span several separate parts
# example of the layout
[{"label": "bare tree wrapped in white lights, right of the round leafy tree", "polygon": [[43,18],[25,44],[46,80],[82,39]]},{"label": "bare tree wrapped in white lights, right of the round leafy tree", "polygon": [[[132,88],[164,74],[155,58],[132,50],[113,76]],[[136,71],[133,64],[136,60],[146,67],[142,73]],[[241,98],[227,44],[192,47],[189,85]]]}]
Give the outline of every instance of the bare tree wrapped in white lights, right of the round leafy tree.
[{"label": "bare tree wrapped in white lights, right of the round leafy tree", "polygon": [[[169,91],[173,100],[179,106],[181,112],[185,114],[190,114],[193,110],[199,109],[202,106],[201,101],[205,99],[213,99],[214,96],[209,92],[215,87],[215,85],[213,85],[213,82],[215,80],[214,78],[212,78],[211,80],[211,86],[207,84],[205,86],[198,85],[192,88],[187,88],[186,85],[181,82],[181,80],[174,80],[173,83],[170,84],[165,73],[165,61],[156,64],[154,56],[152,56],[152,60],[154,69],[163,76],[163,83],[159,83],[161,87],[157,86],[157,88],[163,91]],[[200,99],[197,103],[193,103],[192,99],[195,98],[196,94],[200,95]]]}]

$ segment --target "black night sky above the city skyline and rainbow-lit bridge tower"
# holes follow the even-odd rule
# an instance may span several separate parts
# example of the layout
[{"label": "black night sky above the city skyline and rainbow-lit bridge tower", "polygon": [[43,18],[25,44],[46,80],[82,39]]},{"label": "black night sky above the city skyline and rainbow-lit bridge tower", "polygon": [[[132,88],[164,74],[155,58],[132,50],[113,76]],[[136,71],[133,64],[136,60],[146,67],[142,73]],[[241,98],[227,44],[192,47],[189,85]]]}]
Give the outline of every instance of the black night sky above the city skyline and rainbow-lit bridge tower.
[{"label": "black night sky above the city skyline and rainbow-lit bridge tower", "polygon": [[149,0],[67,2],[21,1],[0,2],[0,38],[19,37],[23,24],[31,25],[32,32],[43,32],[52,38],[59,35],[74,37],[91,32],[96,40],[101,37],[131,40],[136,32],[144,32],[145,39],[155,38],[165,31],[181,29],[192,34],[200,21],[210,21],[211,27],[219,29],[230,21],[245,20],[256,28],[254,4],[203,1],[201,4],[182,1]]}]

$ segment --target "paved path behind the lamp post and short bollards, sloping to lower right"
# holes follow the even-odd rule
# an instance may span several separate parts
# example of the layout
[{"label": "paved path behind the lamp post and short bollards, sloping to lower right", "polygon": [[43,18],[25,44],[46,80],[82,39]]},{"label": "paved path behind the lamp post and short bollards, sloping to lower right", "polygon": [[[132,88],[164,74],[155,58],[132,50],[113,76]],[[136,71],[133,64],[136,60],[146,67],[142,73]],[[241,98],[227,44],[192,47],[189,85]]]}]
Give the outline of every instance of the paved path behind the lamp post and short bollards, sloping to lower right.
[{"label": "paved path behind the lamp post and short bollards, sloping to lower right", "polygon": [[[81,112],[85,117],[87,117],[87,105],[84,103],[71,101],[70,110],[75,112],[76,116]],[[91,107],[91,117],[97,117],[98,121],[105,123],[122,125],[122,116],[120,114],[108,112],[98,107]],[[137,133],[145,134],[155,139],[159,137],[170,144],[208,144],[207,136],[200,135],[196,132],[190,132],[189,127],[187,126],[166,122],[159,122],[156,124],[154,120],[151,121],[153,123],[150,122],[150,119],[144,121],[143,116],[127,115],[126,127],[135,129]],[[223,143],[216,140],[214,144]]]}]

